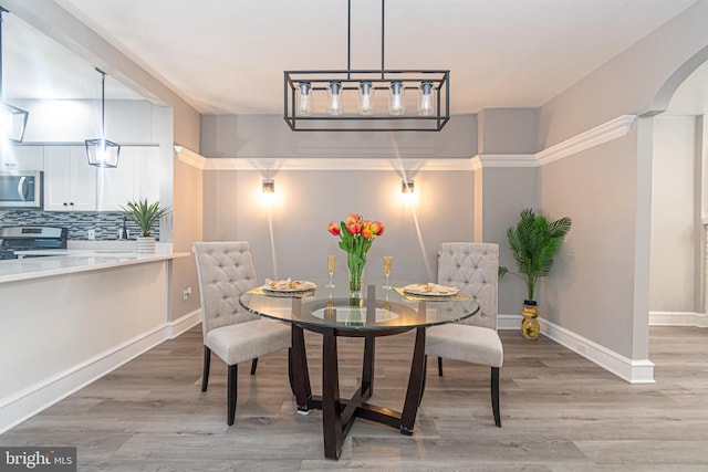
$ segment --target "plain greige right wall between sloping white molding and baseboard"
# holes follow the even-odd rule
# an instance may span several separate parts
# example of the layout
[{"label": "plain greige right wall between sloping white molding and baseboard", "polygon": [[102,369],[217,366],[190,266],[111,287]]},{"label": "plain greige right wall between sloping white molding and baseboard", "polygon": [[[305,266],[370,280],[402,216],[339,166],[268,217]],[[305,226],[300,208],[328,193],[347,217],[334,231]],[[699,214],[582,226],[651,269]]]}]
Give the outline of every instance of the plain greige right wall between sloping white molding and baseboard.
[{"label": "plain greige right wall between sloping white molding and baseboard", "polygon": [[541,201],[573,228],[546,280],[542,316],[632,357],[636,130],[541,168]]}]

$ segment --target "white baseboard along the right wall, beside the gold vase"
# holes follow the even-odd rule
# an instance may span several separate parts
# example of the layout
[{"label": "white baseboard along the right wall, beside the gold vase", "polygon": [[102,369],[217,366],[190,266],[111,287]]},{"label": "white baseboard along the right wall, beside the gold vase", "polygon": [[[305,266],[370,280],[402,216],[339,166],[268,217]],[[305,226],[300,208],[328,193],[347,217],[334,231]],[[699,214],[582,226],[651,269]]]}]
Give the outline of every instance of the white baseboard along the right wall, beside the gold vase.
[{"label": "white baseboard along the right wall, beside the gold vase", "polygon": [[554,323],[539,318],[541,333],[629,384],[654,384],[654,363],[634,360]]}]

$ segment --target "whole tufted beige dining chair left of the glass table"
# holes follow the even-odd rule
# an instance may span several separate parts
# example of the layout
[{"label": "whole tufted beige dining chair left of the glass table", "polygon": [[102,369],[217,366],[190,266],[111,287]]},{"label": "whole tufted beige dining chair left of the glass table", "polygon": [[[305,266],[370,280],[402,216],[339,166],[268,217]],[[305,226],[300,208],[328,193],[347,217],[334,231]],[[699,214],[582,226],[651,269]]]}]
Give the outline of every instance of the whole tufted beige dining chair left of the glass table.
[{"label": "whole tufted beige dining chair left of the glass table", "polygon": [[238,364],[252,360],[291,344],[290,327],[248,313],[239,296],[258,285],[256,265],[248,242],[195,242],[201,332],[204,334],[204,374],[201,391],[207,391],[211,352],[228,366],[227,423],[236,416]]}]

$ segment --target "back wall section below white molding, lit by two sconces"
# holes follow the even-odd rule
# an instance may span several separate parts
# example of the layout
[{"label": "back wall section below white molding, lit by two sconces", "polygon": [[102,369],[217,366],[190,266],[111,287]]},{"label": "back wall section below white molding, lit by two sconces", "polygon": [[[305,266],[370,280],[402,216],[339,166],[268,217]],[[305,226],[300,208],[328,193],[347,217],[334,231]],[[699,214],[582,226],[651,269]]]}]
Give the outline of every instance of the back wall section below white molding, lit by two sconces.
[{"label": "back wall section below white molding, lit by two sconces", "polygon": [[469,170],[419,171],[413,207],[402,201],[400,176],[393,170],[280,171],[270,209],[262,201],[261,180],[259,171],[217,170],[205,171],[204,183],[205,239],[249,241],[261,281],[291,276],[322,282],[326,255],[336,254],[335,279],[344,283],[345,253],[326,225],[350,212],[386,225],[368,253],[367,281],[382,280],[383,255],[394,256],[392,279],[434,281],[440,243],[472,240]]}]

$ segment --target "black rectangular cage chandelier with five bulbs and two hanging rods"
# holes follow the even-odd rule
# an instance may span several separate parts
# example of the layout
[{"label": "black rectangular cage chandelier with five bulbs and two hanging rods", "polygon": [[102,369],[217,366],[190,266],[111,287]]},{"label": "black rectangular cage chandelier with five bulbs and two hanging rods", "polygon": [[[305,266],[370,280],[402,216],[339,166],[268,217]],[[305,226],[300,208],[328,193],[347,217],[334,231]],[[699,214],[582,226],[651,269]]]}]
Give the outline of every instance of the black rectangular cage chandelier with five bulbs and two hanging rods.
[{"label": "black rectangular cage chandelier with five bulbs and two hanging rods", "polygon": [[283,118],[290,129],[439,132],[450,119],[450,71],[385,69],[385,0],[381,6],[381,70],[351,69],[352,0],[347,0],[346,70],[284,71]]}]

